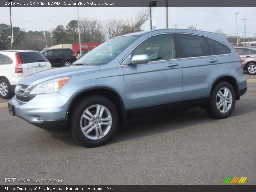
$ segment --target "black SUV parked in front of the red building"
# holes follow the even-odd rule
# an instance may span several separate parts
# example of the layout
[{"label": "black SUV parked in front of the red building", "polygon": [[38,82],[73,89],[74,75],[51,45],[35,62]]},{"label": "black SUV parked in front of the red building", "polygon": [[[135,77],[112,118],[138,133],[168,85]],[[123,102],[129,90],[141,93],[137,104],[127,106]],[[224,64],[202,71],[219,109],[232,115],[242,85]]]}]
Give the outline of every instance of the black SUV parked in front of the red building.
[{"label": "black SUV parked in front of the red building", "polygon": [[69,66],[76,60],[76,54],[69,48],[45,49],[41,53],[44,54],[53,67]]}]

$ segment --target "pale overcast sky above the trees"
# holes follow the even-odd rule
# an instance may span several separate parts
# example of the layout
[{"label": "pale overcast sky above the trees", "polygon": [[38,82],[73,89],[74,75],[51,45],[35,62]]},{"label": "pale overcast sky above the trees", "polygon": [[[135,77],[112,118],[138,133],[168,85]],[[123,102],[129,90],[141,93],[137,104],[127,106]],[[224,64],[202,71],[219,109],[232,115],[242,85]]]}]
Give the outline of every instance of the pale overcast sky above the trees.
[{"label": "pale overcast sky above the trees", "polygon": [[[141,7],[79,7],[79,18],[98,20],[135,17]],[[236,15],[238,35],[244,36],[246,18],[246,37],[256,36],[256,7],[169,7],[169,28],[186,28],[197,25],[196,29],[214,32],[222,29],[228,35],[236,35]],[[154,7],[152,18],[156,19],[156,29],[165,28],[165,7]],[[12,25],[25,31],[52,31],[57,25],[66,26],[70,20],[77,20],[76,7],[12,7]],[[10,25],[9,7],[0,7],[0,23]],[[142,30],[150,29],[146,21]]]}]

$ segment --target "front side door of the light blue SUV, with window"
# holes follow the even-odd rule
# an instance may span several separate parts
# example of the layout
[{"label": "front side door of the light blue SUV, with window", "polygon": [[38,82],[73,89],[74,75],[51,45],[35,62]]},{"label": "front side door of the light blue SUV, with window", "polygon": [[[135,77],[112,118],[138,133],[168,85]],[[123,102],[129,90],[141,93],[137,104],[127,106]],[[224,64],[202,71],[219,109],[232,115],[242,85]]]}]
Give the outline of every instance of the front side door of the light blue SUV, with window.
[{"label": "front side door of the light blue SUV, with window", "polygon": [[[134,55],[148,54],[149,63],[126,65]],[[139,44],[123,63],[129,116],[182,107],[182,66],[172,34],[157,35]]]}]

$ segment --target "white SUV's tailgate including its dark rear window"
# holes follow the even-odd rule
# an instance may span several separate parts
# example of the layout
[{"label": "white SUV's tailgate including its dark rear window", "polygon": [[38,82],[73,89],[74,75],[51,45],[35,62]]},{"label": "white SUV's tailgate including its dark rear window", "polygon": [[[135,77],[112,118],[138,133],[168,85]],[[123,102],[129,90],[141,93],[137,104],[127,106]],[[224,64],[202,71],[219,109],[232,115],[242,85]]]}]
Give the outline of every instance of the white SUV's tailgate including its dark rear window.
[{"label": "white SUV's tailgate including its dark rear window", "polygon": [[51,68],[50,62],[40,52],[18,52],[23,69],[23,76]]}]

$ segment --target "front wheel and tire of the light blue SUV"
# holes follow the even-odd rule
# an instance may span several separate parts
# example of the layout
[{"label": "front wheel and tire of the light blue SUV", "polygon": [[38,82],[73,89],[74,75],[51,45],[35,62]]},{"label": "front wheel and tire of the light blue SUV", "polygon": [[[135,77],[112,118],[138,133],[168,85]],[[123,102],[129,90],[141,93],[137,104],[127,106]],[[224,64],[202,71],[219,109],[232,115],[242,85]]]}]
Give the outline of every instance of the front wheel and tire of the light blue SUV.
[{"label": "front wheel and tire of the light blue SUV", "polygon": [[[96,117],[97,107],[99,119]],[[105,109],[100,115],[102,107]],[[69,118],[69,131],[74,140],[85,147],[97,147],[108,143],[118,127],[118,113],[115,105],[100,95],[87,96],[77,101],[71,109]],[[105,120],[102,121],[102,119]],[[84,127],[83,131],[82,127]]]}]

